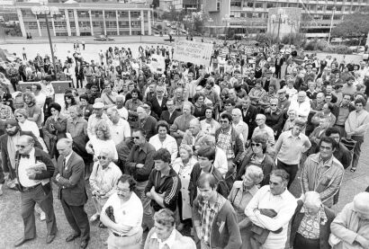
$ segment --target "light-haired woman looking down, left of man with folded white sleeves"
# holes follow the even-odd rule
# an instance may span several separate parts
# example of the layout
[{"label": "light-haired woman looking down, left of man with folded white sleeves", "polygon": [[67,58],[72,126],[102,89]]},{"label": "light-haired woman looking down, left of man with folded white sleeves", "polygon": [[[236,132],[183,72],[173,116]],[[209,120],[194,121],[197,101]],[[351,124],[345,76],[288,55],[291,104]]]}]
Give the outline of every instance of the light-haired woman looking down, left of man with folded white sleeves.
[{"label": "light-haired woman looking down, left of man with folded white sleeves", "polygon": [[242,249],[251,248],[251,231],[247,229],[251,223],[245,215],[245,209],[248,202],[257,193],[257,185],[263,181],[263,178],[264,174],[262,169],[256,165],[250,165],[247,167],[245,174],[242,175],[242,180],[234,182],[232,190],[229,192],[228,200],[235,209],[238,218],[238,227],[242,238]]}]

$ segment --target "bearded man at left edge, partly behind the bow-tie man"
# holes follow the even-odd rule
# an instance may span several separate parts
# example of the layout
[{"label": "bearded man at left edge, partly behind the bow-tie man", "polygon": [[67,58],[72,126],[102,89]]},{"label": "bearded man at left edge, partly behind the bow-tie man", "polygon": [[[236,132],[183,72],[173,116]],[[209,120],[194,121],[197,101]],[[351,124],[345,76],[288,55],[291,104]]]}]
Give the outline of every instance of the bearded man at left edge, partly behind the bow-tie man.
[{"label": "bearded man at left edge, partly behind the bow-tie man", "polygon": [[[5,121],[5,134],[0,137],[1,160],[3,167],[0,167],[0,195],[3,194],[3,184],[5,178],[9,178],[7,185],[15,189],[15,153],[16,145],[22,135],[31,136],[34,139],[34,147],[42,149],[39,140],[34,137],[31,131],[22,131],[17,120],[9,119]],[[5,175],[6,174],[6,177]]]}]

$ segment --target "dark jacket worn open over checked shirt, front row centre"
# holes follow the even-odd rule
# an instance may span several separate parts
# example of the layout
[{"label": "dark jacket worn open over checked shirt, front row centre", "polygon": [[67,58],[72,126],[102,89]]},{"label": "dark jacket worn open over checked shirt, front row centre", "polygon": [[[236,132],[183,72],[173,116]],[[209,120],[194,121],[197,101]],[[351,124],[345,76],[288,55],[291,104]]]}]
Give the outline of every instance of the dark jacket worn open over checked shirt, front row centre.
[{"label": "dark jacket worn open over checked shirt, front row centre", "polygon": [[[211,224],[210,246],[217,249],[239,249],[242,245],[242,240],[236,212],[229,200],[224,200],[223,197],[220,198],[219,211],[215,214]],[[201,224],[201,205],[204,205],[203,202],[202,195],[199,195],[193,201],[193,224],[195,226]]]}]

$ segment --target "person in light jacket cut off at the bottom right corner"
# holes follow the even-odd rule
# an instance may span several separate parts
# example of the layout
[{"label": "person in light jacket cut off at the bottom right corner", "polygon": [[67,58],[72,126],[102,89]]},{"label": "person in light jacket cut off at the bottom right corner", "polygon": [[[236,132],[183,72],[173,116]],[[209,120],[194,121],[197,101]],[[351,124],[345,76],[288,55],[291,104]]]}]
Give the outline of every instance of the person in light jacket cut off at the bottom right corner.
[{"label": "person in light jacket cut off at the bottom right corner", "polygon": [[333,249],[369,248],[369,192],[356,194],[330,225]]}]

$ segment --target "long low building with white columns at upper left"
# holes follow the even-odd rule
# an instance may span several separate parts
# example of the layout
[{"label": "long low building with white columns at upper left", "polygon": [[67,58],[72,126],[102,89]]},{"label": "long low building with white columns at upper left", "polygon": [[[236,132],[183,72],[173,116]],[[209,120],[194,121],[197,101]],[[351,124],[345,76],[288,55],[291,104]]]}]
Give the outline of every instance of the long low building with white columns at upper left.
[{"label": "long low building with white columns at upper left", "polygon": [[[16,3],[23,37],[47,36],[42,16],[31,12],[35,4]],[[48,4],[59,14],[49,18],[52,36],[151,35],[152,9],[146,4],[73,3]]]}]

